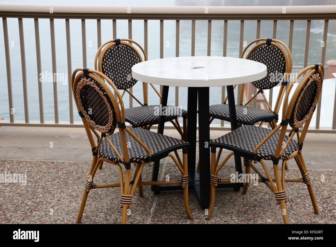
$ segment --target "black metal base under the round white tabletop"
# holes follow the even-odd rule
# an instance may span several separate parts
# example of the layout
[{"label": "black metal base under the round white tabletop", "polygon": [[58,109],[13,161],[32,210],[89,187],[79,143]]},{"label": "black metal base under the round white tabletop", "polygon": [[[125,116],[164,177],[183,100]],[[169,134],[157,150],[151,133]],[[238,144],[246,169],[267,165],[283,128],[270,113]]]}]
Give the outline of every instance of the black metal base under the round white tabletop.
[{"label": "black metal base under the round white tabletop", "polygon": [[[233,86],[226,86],[229,113],[231,116],[231,129],[237,128],[236,105]],[[167,106],[169,86],[162,88],[162,107]],[[196,171],[196,130],[197,130],[197,106],[199,124],[199,157],[200,175]],[[189,188],[194,189],[203,209],[209,207],[210,203],[210,140],[209,126],[209,87],[188,87],[188,119],[187,119],[187,141],[191,144],[188,148],[188,174]],[[163,134],[165,116],[160,116],[158,133]],[[241,157],[235,155],[236,171],[242,172]],[[158,181],[160,161],[154,162],[152,181]],[[243,183],[219,183],[217,188],[234,188],[239,191]],[[152,186],[152,191],[159,194],[160,191],[182,190],[181,185],[163,184]]]}]

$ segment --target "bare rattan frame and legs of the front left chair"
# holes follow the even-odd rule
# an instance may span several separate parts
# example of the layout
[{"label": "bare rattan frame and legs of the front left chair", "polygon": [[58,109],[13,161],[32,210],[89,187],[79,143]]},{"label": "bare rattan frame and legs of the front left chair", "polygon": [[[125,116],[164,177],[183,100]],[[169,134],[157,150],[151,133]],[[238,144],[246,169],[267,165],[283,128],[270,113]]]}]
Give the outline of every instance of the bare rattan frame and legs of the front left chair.
[{"label": "bare rattan frame and legs of the front left chair", "polygon": [[[84,68],[78,68],[78,69],[74,70],[74,72],[72,74],[72,79],[71,79],[72,80],[73,95],[74,95],[74,98],[75,98],[75,102],[76,102],[78,112],[81,112],[81,108],[80,108],[79,103],[78,103],[79,99],[76,96],[76,86],[77,86],[78,80],[84,76],[83,70],[84,70]],[[186,214],[187,214],[188,218],[192,218],[192,214],[190,212],[189,202],[188,202],[187,149],[183,148],[183,152],[182,152],[183,153],[183,157],[182,157],[183,161],[181,161],[181,159],[179,158],[176,151],[174,151],[174,153],[175,153],[175,156],[177,157],[177,159],[172,154],[168,154],[168,156],[172,158],[172,160],[176,164],[177,168],[181,172],[181,176],[182,176],[181,180],[145,181],[145,182],[142,181],[141,172],[142,172],[142,169],[143,169],[144,165],[148,164],[148,165],[151,166],[152,162],[142,162],[141,164],[138,164],[138,163],[134,164],[133,178],[131,180],[131,166],[129,164],[130,163],[130,158],[129,158],[128,148],[127,148],[127,143],[126,143],[126,138],[125,138],[125,132],[127,132],[136,142],[139,143],[139,145],[141,145],[146,150],[148,156],[151,156],[151,151],[143,142],[141,142],[141,140],[137,136],[135,136],[135,134],[133,134],[126,127],[126,125],[125,125],[125,108],[124,108],[123,99],[122,99],[121,94],[119,93],[119,90],[114,85],[114,83],[106,75],[104,75],[103,73],[101,73],[99,71],[96,71],[96,70],[89,69],[88,70],[88,77],[95,80],[105,90],[105,92],[107,93],[108,97],[110,98],[110,100],[113,104],[115,117],[116,117],[116,120],[117,120],[117,123],[118,123],[118,129],[119,129],[119,132],[120,132],[123,157],[120,155],[120,153],[118,153],[118,151],[114,147],[113,143],[109,140],[108,135],[111,134],[111,133],[102,133],[101,136],[99,136],[97,131],[99,131],[100,129],[95,127],[95,126],[91,126],[89,124],[88,120],[85,117],[82,117],[82,121],[83,121],[85,130],[86,130],[86,133],[87,133],[87,136],[88,136],[88,139],[89,139],[92,151],[93,151],[93,159],[92,159],[91,167],[90,167],[90,170],[89,170],[89,173],[88,173],[88,177],[87,177],[87,181],[86,181],[86,185],[85,185],[85,189],[84,189],[84,194],[83,194],[83,197],[82,197],[82,202],[81,202],[81,205],[80,205],[80,208],[79,208],[79,212],[78,212],[76,222],[77,223],[81,222],[84,207],[85,207],[85,203],[86,203],[86,200],[87,200],[87,197],[88,197],[88,193],[92,189],[120,187],[121,188],[121,208],[122,208],[121,223],[126,223],[127,210],[130,209],[130,207],[131,207],[131,200],[132,200],[132,196],[134,194],[135,188],[136,187],[139,188],[139,196],[142,197],[143,196],[142,186],[144,186],[144,185],[158,185],[158,184],[182,184],[183,196],[184,196],[184,208],[185,208],[185,211],[186,211]],[[104,82],[104,80],[106,80],[107,83],[113,88],[117,98],[113,95],[112,91],[110,90],[110,87]],[[120,105],[120,107],[119,107],[119,105]],[[83,115],[85,115],[85,114],[83,114]],[[123,125],[123,127],[119,127],[119,123],[121,123],[120,125],[121,126]],[[113,131],[114,131],[114,129],[113,129]],[[97,145],[96,145],[96,142],[94,140],[93,135],[97,137]],[[100,143],[101,143],[103,138],[107,140],[109,145],[112,147],[112,149],[118,155],[119,159],[125,165],[125,178],[123,176],[123,171],[122,171],[121,164],[119,164],[117,162],[110,161],[110,160],[108,160],[106,158],[103,158],[103,157],[100,157],[98,155],[99,146],[100,146]],[[94,178],[94,175],[97,171],[97,168],[99,166],[101,166],[101,164],[104,161],[117,166],[117,169],[119,171],[119,178],[120,178],[119,183],[112,183],[112,184],[94,184],[93,183],[93,178]],[[129,168],[127,168],[126,165],[129,165]],[[134,181],[134,183],[131,182],[131,181]],[[127,203],[125,203],[125,200],[127,201]]]}]

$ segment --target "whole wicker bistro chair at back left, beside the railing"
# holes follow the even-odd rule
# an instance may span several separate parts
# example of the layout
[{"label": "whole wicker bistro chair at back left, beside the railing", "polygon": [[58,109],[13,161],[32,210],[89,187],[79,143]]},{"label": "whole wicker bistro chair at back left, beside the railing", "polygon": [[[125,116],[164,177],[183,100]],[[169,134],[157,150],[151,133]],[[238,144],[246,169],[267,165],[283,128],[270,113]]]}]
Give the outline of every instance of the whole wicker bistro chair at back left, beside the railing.
[{"label": "whole wicker bistro chair at back left, beside the railing", "polygon": [[[142,57],[138,50],[126,41],[136,44],[142,51],[144,60],[147,60],[147,54],[144,49],[134,40],[113,39],[103,43],[99,47],[94,59],[95,69],[109,77],[119,90],[124,90],[121,95],[122,97],[127,92],[140,104],[139,107],[125,109],[125,121],[130,123],[133,128],[142,127],[150,130],[152,125],[159,123],[159,115],[155,112],[160,106],[148,105],[148,83],[142,83],[143,103],[128,90],[137,82],[137,80],[131,77],[132,66],[142,62]],[[161,94],[155,86],[151,83],[150,85],[161,98]],[[169,108],[174,109],[173,106],[167,106],[167,109]],[[175,114],[176,111],[171,111],[169,115],[166,115],[166,122],[171,122],[181,135],[181,138],[185,140],[187,112],[183,109],[180,109],[180,111],[181,114]],[[179,117],[183,117],[183,130],[177,120]]]}]

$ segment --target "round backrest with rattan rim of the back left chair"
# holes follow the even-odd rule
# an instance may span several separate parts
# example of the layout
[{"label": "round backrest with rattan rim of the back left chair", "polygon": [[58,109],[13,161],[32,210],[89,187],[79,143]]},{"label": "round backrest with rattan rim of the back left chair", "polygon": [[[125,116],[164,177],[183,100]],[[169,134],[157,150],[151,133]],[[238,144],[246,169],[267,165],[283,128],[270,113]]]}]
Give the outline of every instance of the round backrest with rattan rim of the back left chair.
[{"label": "round backrest with rattan rim of the back left chair", "polygon": [[137,49],[123,40],[128,39],[115,39],[106,42],[105,45],[108,45],[101,50],[103,44],[97,51],[98,54],[101,50],[98,58],[98,71],[109,77],[119,90],[125,90],[135,85],[137,80],[132,77],[132,66],[142,62]]}]

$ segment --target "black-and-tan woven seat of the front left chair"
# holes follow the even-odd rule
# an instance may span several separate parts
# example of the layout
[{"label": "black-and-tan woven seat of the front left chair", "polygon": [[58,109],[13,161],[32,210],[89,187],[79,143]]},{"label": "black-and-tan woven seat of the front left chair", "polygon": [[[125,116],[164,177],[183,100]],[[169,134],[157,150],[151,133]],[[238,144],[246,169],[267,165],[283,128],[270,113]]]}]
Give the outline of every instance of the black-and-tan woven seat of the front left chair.
[{"label": "black-and-tan woven seat of the front left chair", "polygon": [[[130,131],[134,133],[144,143],[144,145],[150,149],[152,153],[152,156],[149,157],[146,150],[125,131],[129,159],[131,163],[151,162],[162,159],[167,157],[170,152],[190,146],[189,142],[162,135],[150,130],[142,128],[131,128]],[[116,132],[108,136],[108,138],[119,154],[124,158],[120,133]],[[101,141],[98,153],[104,159],[121,163],[121,160],[106,139]]]}]

